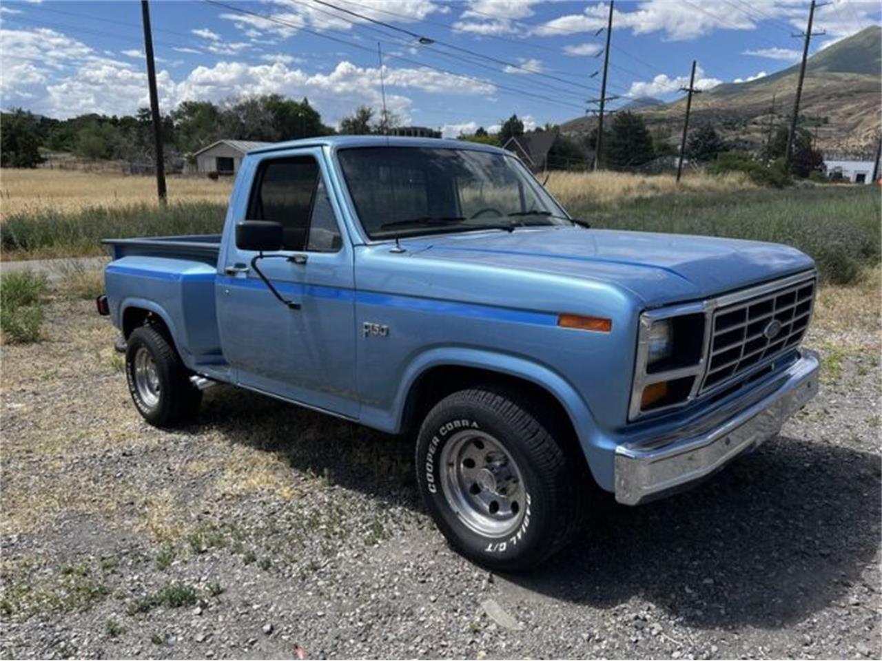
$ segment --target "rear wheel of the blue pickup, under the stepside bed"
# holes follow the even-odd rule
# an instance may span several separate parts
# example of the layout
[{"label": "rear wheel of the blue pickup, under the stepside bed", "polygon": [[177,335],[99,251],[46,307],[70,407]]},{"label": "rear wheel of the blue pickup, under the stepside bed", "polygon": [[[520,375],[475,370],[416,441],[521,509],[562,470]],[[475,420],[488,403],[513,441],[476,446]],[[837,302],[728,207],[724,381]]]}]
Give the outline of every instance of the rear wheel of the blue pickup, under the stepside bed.
[{"label": "rear wheel of the blue pickup, under the stepside bed", "polygon": [[125,376],[135,407],[154,427],[174,427],[198,412],[202,392],[190,382],[175,347],[151,326],[131,332]]}]

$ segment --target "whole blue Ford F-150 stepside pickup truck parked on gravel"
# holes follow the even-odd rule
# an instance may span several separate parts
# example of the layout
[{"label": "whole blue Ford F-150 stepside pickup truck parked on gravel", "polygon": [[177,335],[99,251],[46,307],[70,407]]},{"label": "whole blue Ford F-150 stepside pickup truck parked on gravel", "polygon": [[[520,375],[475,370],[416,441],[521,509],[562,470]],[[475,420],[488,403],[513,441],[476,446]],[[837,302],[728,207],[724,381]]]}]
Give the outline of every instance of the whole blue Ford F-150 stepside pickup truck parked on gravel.
[{"label": "whole blue Ford F-150 stepside pickup truck parked on gravel", "polygon": [[818,388],[808,256],[591,228],[490,146],[262,147],[223,234],[106,243],[98,304],[148,422],[228,383],[407,434],[437,526],[490,568],[548,558],[602,491],[706,478]]}]

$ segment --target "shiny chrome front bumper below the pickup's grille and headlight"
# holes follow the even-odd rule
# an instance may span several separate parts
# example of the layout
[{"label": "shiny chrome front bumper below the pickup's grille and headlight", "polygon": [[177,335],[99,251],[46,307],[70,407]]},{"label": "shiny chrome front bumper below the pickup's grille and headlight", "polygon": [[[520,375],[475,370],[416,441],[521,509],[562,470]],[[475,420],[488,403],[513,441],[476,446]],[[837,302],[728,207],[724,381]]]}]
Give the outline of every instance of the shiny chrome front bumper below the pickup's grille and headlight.
[{"label": "shiny chrome front bumper below the pickup's grille and headlight", "polygon": [[[818,354],[803,351],[787,370],[737,403],[663,439],[616,449],[616,500],[637,505],[683,489],[781,430],[818,392]],[[759,397],[759,398],[758,398]]]}]

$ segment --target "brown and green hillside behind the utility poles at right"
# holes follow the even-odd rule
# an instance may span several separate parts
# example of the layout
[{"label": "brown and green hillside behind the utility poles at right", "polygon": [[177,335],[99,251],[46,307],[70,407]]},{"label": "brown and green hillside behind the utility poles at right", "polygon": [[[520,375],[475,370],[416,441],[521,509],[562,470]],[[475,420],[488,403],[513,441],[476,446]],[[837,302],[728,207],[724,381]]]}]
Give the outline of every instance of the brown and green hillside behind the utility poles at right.
[{"label": "brown and green hillside behind the utility poles at right", "polygon": [[[692,100],[690,126],[712,123],[721,136],[744,149],[757,149],[769,128],[789,126],[799,65],[744,83],[724,83]],[[826,152],[871,152],[882,113],[882,27],[870,26],[818,51],[805,67],[800,125],[812,131]],[[773,106],[774,101],[774,106]],[[642,115],[650,130],[675,143],[683,130],[685,99],[657,106],[625,108]],[[561,124],[584,136],[596,120],[579,117]]]}]

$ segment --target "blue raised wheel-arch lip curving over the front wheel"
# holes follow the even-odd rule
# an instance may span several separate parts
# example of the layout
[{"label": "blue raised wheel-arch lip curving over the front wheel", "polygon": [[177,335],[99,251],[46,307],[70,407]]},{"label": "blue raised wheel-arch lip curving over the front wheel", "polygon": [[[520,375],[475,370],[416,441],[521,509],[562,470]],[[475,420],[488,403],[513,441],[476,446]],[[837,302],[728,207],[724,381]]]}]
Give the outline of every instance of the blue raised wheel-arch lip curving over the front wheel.
[{"label": "blue raised wheel-arch lip curving over the front wheel", "polygon": [[584,398],[564,376],[540,363],[519,356],[468,347],[429,349],[417,355],[407,366],[392,410],[385,412],[375,408],[363,408],[363,423],[392,433],[400,433],[407,397],[420,376],[432,368],[450,366],[485,369],[514,376],[547,390],[564,407],[564,411],[569,416],[594,479],[603,488],[612,489],[612,457],[616,447],[598,430],[594,422],[594,415],[592,415]]}]

